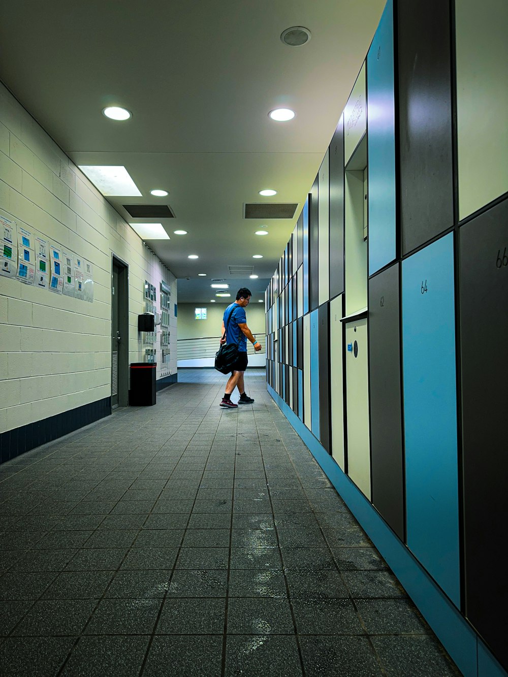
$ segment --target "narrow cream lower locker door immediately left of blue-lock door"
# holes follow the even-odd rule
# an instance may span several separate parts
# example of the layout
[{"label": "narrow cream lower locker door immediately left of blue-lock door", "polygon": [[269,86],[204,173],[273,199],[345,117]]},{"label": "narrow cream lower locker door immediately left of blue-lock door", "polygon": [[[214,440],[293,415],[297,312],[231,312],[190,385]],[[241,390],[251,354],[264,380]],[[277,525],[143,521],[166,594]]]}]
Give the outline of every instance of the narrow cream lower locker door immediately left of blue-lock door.
[{"label": "narrow cream lower locker door immediately left of blue-lock door", "polygon": [[330,402],[332,456],[344,471],[342,303],[343,294],[330,301]]}]

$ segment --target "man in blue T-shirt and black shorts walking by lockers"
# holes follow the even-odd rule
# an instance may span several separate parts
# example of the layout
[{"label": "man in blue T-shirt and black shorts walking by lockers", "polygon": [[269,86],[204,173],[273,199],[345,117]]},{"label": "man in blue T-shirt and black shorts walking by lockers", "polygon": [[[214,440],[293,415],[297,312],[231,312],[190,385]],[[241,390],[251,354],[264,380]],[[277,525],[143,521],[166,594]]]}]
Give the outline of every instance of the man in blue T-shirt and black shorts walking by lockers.
[{"label": "man in blue T-shirt and black shorts walking by lockers", "polygon": [[[249,305],[251,300],[251,291],[247,287],[238,289],[236,294],[236,301],[228,305],[224,311],[222,318],[222,336],[227,332],[226,336],[221,339],[221,343],[238,343],[238,359],[232,366],[231,376],[226,383],[226,392],[220,403],[221,407],[228,407],[230,409],[238,409],[238,404],[252,404],[252,397],[247,397],[245,394],[245,383],[243,375],[247,369],[247,339],[254,345],[254,350],[259,353],[261,350],[261,343],[255,340],[251,330],[247,326],[247,317],[245,315],[245,308]],[[231,401],[231,395],[234,389],[238,387],[240,391],[240,399],[238,404]]]}]

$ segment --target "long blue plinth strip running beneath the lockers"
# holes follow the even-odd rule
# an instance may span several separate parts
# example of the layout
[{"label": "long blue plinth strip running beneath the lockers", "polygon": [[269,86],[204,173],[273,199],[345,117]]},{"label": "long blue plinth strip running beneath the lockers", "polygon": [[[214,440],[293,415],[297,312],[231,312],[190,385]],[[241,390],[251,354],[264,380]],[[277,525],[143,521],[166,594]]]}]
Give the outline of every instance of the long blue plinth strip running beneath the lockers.
[{"label": "long blue plinth strip running beneath the lockers", "polygon": [[379,512],[337,465],[284,400],[267,384],[268,393],[308,446],[347,507],[379,550],[421,614],[465,677],[503,677],[507,673],[488,651],[448,597],[391,531]]}]

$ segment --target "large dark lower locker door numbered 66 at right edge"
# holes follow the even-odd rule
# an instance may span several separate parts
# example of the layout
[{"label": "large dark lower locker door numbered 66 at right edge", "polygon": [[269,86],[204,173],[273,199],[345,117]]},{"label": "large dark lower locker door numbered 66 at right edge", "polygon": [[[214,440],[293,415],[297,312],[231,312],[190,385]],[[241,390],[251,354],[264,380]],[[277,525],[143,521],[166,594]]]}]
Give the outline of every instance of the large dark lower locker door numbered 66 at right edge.
[{"label": "large dark lower locker door numbered 66 at right edge", "polygon": [[505,668],[507,223],[505,200],[459,229],[466,615]]}]

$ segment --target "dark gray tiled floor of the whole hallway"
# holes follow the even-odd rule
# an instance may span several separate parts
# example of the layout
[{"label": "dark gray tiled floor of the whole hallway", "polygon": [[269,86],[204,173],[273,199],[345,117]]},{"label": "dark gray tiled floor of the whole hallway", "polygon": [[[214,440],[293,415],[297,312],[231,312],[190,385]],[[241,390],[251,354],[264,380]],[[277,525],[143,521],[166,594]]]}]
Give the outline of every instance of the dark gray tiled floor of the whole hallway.
[{"label": "dark gray tiled floor of the whole hallway", "polygon": [[0,466],[1,674],[459,674],[264,374],[225,381]]}]

